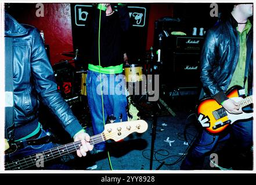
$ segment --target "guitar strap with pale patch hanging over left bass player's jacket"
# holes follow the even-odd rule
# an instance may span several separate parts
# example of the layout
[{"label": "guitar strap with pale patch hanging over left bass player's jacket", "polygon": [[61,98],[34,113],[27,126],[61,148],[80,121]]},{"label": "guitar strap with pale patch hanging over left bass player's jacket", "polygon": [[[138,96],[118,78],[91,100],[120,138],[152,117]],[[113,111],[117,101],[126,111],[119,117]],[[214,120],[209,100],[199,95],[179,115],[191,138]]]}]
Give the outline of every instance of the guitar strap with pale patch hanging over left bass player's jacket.
[{"label": "guitar strap with pale patch hanging over left bass player's jacket", "polygon": [[13,38],[5,37],[5,138],[14,140]]}]

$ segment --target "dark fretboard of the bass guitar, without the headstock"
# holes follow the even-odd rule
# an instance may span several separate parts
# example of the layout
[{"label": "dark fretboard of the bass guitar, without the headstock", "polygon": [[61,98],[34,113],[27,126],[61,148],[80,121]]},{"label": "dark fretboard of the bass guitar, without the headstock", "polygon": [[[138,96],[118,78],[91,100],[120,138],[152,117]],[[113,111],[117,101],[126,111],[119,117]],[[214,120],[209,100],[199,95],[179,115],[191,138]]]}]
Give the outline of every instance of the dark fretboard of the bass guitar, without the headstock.
[{"label": "dark fretboard of the bass guitar, without the headstock", "polygon": [[[92,145],[95,145],[97,143],[103,142],[104,140],[107,140],[107,139],[102,133],[102,134],[91,136],[90,143]],[[21,158],[20,160],[5,162],[5,169],[6,170],[26,169],[26,168],[30,168],[31,166],[37,166],[37,165],[40,165],[41,161],[46,162],[49,160],[53,160],[57,157],[61,157],[66,154],[72,153],[80,149],[81,145],[82,145],[81,140],[79,140],[77,142],[57,146],[52,149],[42,151],[41,153],[37,153],[31,156]]]}]

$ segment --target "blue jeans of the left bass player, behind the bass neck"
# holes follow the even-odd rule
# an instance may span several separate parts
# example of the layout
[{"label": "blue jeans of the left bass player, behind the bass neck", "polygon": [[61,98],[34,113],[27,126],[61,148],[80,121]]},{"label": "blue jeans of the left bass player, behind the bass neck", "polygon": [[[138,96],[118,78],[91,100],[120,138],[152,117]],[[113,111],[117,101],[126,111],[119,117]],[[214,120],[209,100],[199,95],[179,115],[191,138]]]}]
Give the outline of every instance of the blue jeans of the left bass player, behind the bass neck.
[{"label": "blue jeans of the left bass player, behind the bass neck", "polygon": [[[38,136],[38,138],[42,138],[46,136],[46,132],[42,129],[41,134]],[[37,139],[38,139],[37,138]],[[31,156],[33,154],[39,154],[42,153],[42,151],[51,149],[53,147],[56,147],[52,142],[43,144],[43,145],[28,145],[24,147],[23,149],[17,150],[14,153],[8,154],[5,156],[5,160],[7,161],[14,161],[19,160],[20,158]],[[32,166],[31,169],[70,169],[68,166],[60,164],[58,161],[57,164],[55,163],[56,160],[53,160],[49,164],[44,164],[44,168]]]}]

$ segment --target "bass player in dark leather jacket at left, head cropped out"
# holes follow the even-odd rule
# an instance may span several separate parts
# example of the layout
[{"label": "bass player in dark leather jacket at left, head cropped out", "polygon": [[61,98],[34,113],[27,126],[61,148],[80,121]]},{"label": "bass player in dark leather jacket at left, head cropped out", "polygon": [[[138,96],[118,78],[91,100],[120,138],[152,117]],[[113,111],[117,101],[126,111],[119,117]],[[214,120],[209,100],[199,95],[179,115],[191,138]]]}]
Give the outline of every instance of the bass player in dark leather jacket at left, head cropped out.
[{"label": "bass player in dark leather jacket at left, head cropped out", "polygon": [[[15,160],[53,147],[52,142],[40,140],[46,136],[38,122],[40,102],[48,106],[71,138],[75,141],[81,140],[82,146],[77,150],[77,156],[86,156],[86,152],[93,148],[89,143],[90,137],[57,91],[52,66],[38,29],[19,24],[5,12],[5,38],[11,40],[10,48],[13,49],[6,49],[5,52],[13,51],[12,57],[8,58],[9,54],[6,55],[6,60],[13,65],[13,75],[10,74],[10,79],[13,79],[14,102],[14,117],[10,117],[14,120],[13,127],[6,128],[5,132],[10,142],[23,143],[23,147],[6,156],[6,160]],[[8,121],[6,120],[6,123]],[[29,144],[32,139],[35,140],[33,146]]]}]

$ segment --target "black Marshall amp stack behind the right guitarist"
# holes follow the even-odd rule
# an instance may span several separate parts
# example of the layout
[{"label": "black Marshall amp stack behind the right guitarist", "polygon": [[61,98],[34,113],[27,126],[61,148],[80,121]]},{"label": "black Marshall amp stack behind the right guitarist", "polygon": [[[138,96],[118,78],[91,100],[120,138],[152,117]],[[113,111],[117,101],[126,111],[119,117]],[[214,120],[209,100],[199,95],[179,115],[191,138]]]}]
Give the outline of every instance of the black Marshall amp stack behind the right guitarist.
[{"label": "black Marshall amp stack behind the right guitarist", "polygon": [[204,38],[169,36],[163,40],[163,79],[176,89],[200,86],[200,52]]}]

